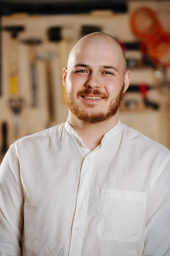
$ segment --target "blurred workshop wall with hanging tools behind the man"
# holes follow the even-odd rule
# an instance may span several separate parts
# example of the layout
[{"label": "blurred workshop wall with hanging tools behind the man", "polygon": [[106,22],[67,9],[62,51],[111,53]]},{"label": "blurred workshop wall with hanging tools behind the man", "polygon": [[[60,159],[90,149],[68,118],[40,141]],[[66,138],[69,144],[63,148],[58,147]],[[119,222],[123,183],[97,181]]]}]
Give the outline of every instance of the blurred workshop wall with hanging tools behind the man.
[{"label": "blurred workshop wall with hanging tools behind the man", "polygon": [[170,148],[170,1],[1,0],[0,161],[15,140],[65,122],[62,68],[96,31],[125,50],[120,120]]}]

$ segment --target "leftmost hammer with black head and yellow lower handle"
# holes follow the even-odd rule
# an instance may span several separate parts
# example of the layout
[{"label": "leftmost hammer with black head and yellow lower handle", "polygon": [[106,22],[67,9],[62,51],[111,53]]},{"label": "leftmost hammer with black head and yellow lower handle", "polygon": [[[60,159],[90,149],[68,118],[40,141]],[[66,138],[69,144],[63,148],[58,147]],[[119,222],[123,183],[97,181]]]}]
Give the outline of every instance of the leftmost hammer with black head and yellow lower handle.
[{"label": "leftmost hammer with black head and yellow lower handle", "polygon": [[10,77],[10,94],[17,94],[19,91],[18,86],[18,68],[17,68],[17,50],[18,42],[17,37],[20,32],[24,31],[24,26],[5,26],[4,30],[11,34],[11,46],[9,54],[9,77]]}]

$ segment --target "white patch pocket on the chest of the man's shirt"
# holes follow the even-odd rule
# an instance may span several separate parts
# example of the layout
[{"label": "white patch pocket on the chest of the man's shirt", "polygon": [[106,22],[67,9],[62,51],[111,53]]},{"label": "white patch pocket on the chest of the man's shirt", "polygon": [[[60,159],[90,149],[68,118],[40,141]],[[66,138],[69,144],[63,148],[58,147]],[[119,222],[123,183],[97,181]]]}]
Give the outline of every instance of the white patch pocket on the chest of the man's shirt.
[{"label": "white patch pocket on the chest of the man's shirt", "polygon": [[135,242],[144,223],[146,193],[102,189],[97,234],[100,239]]}]

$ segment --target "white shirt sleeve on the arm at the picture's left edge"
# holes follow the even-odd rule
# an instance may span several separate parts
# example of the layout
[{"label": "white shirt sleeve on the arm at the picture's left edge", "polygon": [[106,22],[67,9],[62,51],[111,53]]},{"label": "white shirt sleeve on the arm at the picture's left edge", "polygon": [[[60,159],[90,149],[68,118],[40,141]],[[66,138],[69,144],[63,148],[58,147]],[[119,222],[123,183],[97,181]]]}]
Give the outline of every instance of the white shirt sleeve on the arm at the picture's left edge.
[{"label": "white shirt sleeve on the arm at the picture's left edge", "polygon": [[0,255],[21,256],[23,204],[20,165],[11,146],[0,165]]}]

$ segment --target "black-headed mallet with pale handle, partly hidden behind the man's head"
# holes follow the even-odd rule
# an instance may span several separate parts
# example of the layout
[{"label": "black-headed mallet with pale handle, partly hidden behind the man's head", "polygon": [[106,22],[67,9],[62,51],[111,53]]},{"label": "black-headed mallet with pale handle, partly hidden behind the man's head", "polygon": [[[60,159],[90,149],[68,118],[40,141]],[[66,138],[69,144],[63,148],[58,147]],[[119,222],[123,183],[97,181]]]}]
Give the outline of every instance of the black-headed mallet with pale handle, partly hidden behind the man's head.
[{"label": "black-headed mallet with pale handle, partly hidden behind the man's head", "polygon": [[[62,74],[62,69],[67,67],[67,59],[68,59],[68,42],[72,41],[74,38],[74,31],[72,27],[61,27],[55,26],[51,27],[47,31],[48,40],[57,44],[59,48],[59,62],[60,62],[60,74]],[[62,84],[62,75],[61,75],[61,84]],[[63,101],[64,100],[64,86],[62,85],[63,90]]]}]

